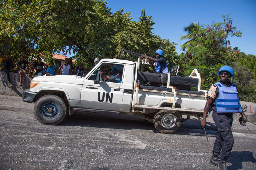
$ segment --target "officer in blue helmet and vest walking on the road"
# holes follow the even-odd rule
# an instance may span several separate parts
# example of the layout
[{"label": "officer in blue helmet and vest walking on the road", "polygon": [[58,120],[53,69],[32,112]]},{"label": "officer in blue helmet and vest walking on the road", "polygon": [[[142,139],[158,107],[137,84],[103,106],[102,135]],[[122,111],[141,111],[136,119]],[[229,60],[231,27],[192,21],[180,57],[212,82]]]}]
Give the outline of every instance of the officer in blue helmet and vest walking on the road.
[{"label": "officer in blue helmet and vest walking on the road", "polygon": [[[231,131],[233,113],[240,113],[244,119],[246,119],[246,116],[238,99],[237,87],[229,80],[229,77],[234,76],[233,69],[230,66],[224,65],[220,68],[218,75],[220,81],[213,84],[208,91],[201,125],[203,128],[206,126],[207,114],[212,110],[212,118],[218,132],[212,149],[213,154],[210,164],[218,166],[221,170],[227,170],[226,160],[234,144]],[[220,162],[218,160],[219,156],[221,158]]]}]

